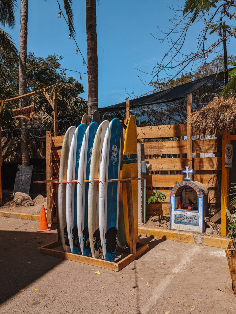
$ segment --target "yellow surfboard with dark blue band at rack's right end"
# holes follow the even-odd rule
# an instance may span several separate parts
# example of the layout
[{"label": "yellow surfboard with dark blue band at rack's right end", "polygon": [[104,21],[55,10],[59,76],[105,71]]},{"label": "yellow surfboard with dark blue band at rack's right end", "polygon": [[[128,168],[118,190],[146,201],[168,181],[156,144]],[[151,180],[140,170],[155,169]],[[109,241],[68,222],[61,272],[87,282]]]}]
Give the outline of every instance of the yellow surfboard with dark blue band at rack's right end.
[{"label": "yellow surfboard with dark blue band at rack's right end", "polygon": [[[138,147],[137,147],[137,128],[135,116],[130,116],[124,139],[124,152],[123,152],[123,168],[122,175],[125,178],[137,178],[138,177]],[[138,181],[132,182],[132,197],[133,197],[133,211],[134,211],[134,235],[135,243],[138,242]],[[123,213],[124,213],[124,228],[128,246],[129,241],[129,225],[128,225],[128,207],[127,207],[127,195],[126,186],[123,185]]]}]

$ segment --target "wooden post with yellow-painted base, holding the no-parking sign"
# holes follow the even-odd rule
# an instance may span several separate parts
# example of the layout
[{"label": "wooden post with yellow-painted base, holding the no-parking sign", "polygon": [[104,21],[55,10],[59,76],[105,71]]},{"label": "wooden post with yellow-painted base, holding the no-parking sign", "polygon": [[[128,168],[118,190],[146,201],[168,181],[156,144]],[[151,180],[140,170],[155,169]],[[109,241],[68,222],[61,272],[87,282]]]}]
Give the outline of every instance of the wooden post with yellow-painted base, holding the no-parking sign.
[{"label": "wooden post with yellow-painted base, holding the no-parking sign", "polygon": [[221,164],[221,220],[220,235],[226,236],[226,207],[228,208],[229,168],[225,168],[225,145],[230,144],[230,132],[225,132],[222,137],[222,164]]}]

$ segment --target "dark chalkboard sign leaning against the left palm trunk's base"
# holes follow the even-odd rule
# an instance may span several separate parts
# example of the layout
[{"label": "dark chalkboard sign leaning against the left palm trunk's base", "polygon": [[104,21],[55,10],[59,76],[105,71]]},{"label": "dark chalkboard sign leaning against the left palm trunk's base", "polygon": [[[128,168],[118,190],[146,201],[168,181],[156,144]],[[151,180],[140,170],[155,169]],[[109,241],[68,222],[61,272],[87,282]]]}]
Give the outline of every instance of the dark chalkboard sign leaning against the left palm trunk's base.
[{"label": "dark chalkboard sign leaning against the left palm trunk's base", "polygon": [[32,171],[33,166],[17,165],[13,193],[22,192],[25,194],[29,194]]}]

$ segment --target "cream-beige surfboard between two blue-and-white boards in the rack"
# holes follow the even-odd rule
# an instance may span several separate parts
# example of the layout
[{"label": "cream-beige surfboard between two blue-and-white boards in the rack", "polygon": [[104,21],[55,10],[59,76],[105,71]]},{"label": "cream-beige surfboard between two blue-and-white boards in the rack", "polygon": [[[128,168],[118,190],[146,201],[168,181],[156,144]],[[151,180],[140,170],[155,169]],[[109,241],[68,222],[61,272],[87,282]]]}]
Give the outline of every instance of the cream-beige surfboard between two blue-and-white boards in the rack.
[{"label": "cream-beige surfboard between two blue-and-white boards in the rack", "polygon": [[99,182],[94,179],[99,178],[100,174],[100,161],[102,158],[102,145],[104,137],[109,125],[109,121],[103,121],[96,132],[91,156],[91,165],[89,173],[89,188],[88,188],[88,234],[90,249],[92,257],[102,259],[102,246],[99,231],[99,218],[98,218],[98,187]]}]

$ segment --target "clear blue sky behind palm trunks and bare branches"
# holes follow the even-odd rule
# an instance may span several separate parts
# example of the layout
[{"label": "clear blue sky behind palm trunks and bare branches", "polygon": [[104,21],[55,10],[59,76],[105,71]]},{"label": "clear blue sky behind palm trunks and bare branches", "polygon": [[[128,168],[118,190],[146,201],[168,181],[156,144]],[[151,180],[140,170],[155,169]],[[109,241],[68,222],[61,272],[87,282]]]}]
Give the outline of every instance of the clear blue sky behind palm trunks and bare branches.
[{"label": "clear blue sky behind palm trunks and bare branches", "polygon": [[[63,1],[59,0],[61,7]],[[20,1],[18,1],[20,5]],[[148,80],[149,76],[135,68],[150,72],[157,61],[167,50],[167,43],[161,45],[150,33],[157,35],[159,26],[165,30],[170,26],[173,11],[168,6],[184,5],[184,0],[100,0],[97,5],[97,51],[99,76],[99,107],[113,105],[125,100],[134,89],[135,95],[150,90],[140,79]],[[68,39],[69,30],[63,17],[58,19],[56,0],[29,0],[28,44],[27,51],[36,56],[46,57],[56,53],[62,55],[63,68],[87,72],[82,66],[82,57],[76,55],[74,41]],[[86,8],[85,0],[74,0],[76,41],[87,60],[86,45]],[[8,30],[19,47],[20,9],[16,12],[16,27]],[[198,30],[194,29],[187,38],[186,49],[196,42]],[[160,34],[160,31],[159,31]],[[232,41],[233,42],[233,41]],[[228,46],[228,53],[233,53],[233,44]],[[79,79],[78,73],[66,71],[67,76]],[[164,74],[163,74],[164,75]],[[82,75],[85,93],[81,95],[87,100],[87,75]]]}]

